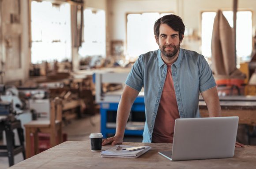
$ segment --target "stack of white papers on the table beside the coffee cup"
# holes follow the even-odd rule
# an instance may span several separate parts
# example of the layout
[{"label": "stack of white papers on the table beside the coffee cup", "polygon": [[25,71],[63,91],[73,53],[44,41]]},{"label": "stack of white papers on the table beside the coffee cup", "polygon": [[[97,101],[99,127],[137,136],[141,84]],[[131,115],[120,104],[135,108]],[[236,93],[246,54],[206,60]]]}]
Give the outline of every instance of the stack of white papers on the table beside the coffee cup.
[{"label": "stack of white papers on the table beside the coffee cup", "polygon": [[129,145],[120,145],[117,149],[117,147],[111,147],[107,149],[106,151],[102,151],[101,155],[102,157],[118,157],[118,158],[137,158],[140,155],[143,155],[145,152],[149,151],[151,149],[150,146],[143,146],[145,148],[135,150],[135,151],[123,151],[123,149],[127,149],[134,146]]}]

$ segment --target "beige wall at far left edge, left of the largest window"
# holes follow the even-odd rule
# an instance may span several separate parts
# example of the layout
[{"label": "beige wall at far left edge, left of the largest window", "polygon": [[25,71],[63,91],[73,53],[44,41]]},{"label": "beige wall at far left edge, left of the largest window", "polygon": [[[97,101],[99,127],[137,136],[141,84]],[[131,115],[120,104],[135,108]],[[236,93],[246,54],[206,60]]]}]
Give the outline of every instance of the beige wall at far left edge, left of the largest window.
[{"label": "beige wall at far left edge, left of the largest window", "polygon": [[[0,83],[24,82],[29,74],[28,1],[1,0],[1,71]],[[14,15],[11,19],[11,14]]]}]

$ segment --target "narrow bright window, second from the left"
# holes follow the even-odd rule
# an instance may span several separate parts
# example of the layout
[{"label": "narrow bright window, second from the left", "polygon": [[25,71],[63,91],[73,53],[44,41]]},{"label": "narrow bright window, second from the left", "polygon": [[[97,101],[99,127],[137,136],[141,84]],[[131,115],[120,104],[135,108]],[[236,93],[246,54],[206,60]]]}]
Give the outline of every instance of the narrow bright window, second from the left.
[{"label": "narrow bright window, second from the left", "polygon": [[106,56],[105,11],[84,10],[84,42],[79,48],[81,57]]}]

